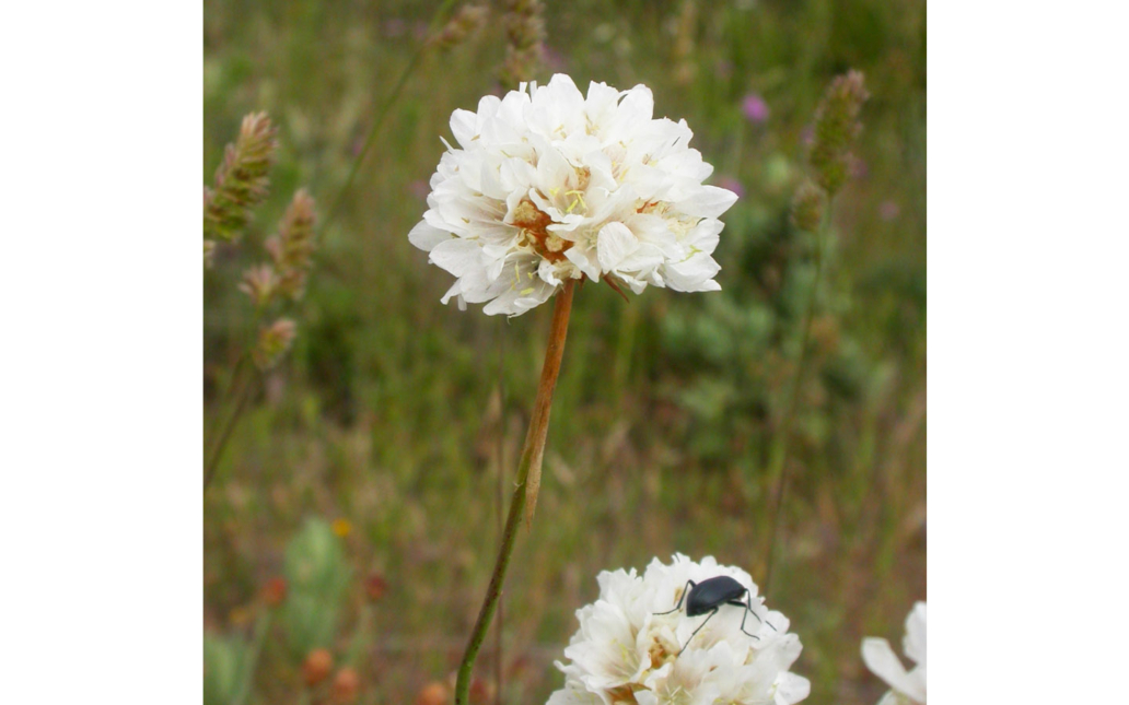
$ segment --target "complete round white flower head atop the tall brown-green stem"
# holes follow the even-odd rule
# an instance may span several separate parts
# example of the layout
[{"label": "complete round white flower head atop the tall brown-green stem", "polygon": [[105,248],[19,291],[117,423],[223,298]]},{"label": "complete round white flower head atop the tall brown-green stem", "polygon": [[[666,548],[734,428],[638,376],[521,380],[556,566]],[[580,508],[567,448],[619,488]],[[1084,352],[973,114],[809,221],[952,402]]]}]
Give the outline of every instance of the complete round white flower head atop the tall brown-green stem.
[{"label": "complete round white flower head atop the tall brown-green stem", "polygon": [[409,233],[457,277],[444,303],[518,316],[583,276],[634,293],[720,289],[718,217],[737,195],[702,184],[714,167],[688,146],[685,121],[653,112],[646,86],[594,82],[585,96],[560,73],[455,111],[460,147],[444,140],[428,211]]}]

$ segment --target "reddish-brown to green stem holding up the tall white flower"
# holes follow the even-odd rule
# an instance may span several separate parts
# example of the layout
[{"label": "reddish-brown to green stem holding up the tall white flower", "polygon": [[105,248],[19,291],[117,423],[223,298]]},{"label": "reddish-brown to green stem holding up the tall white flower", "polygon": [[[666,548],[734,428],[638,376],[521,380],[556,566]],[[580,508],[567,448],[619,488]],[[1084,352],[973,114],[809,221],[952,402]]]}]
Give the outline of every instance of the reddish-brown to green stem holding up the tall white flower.
[{"label": "reddish-brown to green stem holding up the tall white flower", "polygon": [[525,514],[526,500],[530,499],[531,490],[533,491],[533,501],[536,501],[535,492],[536,486],[540,485],[541,460],[544,457],[545,437],[549,433],[549,411],[553,402],[557,376],[561,370],[561,358],[564,354],[564,336],[568,333],[569,314],[572,311],[572,280],[564,282],[564,287],[557,294],[557,301],[553,306],[553,320],[549,331],[549,345],[545,349],[545,363],[541,369],[541,384],[537,386],[537,397],[533,403],[533,417],[530,418],[530,430],[525,435],[525,447],[522,449],[522,459],[517,466],[514,496],[510,500],[509,514],[506,518],[506,528],[501,536],[501,547],[498,549],[498,559],[495,563],[493,574],[490,576],[485,600],[482,602],[482,609],[479,610],[479,618],[474,623],[471,638],[466,643],[463,661],[458,666],[455,705],[470,703],[471,671],[474,668],[474,659],[479,655],[479,649],[482,647],[482,642],[485,640],[490,622],[498,607],[498,600],[501,598],[506,570],[509,567],[509,558],[514,553],[514,541],[517,538],[522,517]]}]

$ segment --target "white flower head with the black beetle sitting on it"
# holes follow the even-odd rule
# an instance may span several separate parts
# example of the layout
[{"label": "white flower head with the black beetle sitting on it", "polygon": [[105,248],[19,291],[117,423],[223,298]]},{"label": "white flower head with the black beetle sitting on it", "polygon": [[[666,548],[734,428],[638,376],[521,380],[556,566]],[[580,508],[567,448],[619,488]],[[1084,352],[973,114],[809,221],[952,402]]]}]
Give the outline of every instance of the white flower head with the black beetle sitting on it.
[{"label": "white flower head with the black beetle sitting on it", "polygon": [[[719,575],[750,589],[759,620],[750,616],[745,629],[756,638],[741,631],[744,614],[735,606],[721,606],[692,640],[706,618],[688,617],[685,601],[657,614],[677,605],[688,580]],[[679,554],[669,565],[654,559],[642,575],[604,571],[596,580],[599,598],[576,613],[580,628],[564,649],[570,662],[557,663],[564,687],[549,705],[790,705],[807,697],[807,679],[788,672],[799,637],[787,633],[787,617],[764,607],[741,569]]]}]

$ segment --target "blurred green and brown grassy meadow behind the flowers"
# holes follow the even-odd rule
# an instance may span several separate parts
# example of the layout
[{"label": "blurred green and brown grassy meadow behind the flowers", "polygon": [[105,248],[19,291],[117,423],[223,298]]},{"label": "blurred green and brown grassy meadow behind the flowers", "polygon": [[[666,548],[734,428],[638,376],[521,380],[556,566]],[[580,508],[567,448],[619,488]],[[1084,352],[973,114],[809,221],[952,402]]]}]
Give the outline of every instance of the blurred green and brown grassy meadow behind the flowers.
[{"label": "blurred green and brown grassy meadow behind the flowers", "polygon": [[[437,6],[204,2],[205,175],[246,113],[266,111],[281,142],[270,199],[204,274],[207,426],[255,329],[236,289],[242,271],[262,258],[299,186],[325,221]],[[648,289],[624,303],[589,284],[577,294],[537,513],[507,582],[502,702],[543,703],[563,682],[552,661],[601,570],[712,554],[763,584],[786,442],[769,605],[804,643],[793,670],[812,680],[807,702],[877,702],[884,686],[863,667],[859,641],[900,644],[926,597],[925,9],[549,3],[541,79],[646,83],[656,116],[689,122],[691,146],[716,167],[710,183],[739,184],[743,197],[721,218],[721,292]],[[288,541],[308,518],[334,522],[352,573],[334,645],[359,654],[361,703],[413,703],[455,669],[493,565],[499,479],[508,502],[540,373],[551,307],[513,320],[444,307],[450,276],[406,237],[452,111],[502,90],[499,25],[495,14],[462,45],[423,55],[333,222],[318,228],[295,347],[205,494],[208,634],[248,634]],[[822,91],[851,68],[872,98],[855,178],[835,202],[786,438],[814,279],[814,241],[789,224],[789,203]],[[746,116],[750,94],[767,120]],[[369,603],[373,574],[387,587]],[[476,669],[491,682],[493,644]],[[306,702],[299,664],[268,638],[250,702]]]}]

